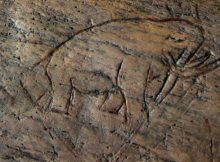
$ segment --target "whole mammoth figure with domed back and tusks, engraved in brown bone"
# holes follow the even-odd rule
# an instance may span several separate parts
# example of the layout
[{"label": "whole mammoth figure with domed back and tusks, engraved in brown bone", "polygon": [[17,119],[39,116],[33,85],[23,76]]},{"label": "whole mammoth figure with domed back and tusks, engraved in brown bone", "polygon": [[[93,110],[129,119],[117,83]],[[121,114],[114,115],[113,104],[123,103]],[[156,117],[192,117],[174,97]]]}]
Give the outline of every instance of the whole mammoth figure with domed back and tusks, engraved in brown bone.
[{"label": "whole mammoth figure with domed back and tusks, engraved in brown bone", "polygon": [[100,96],[98,109],[117,114],[124,108],[127,121],[137,115],[133,104],[145,102],[139,110],[147,109],[146,96],[160,104],[179,78],[219,66],[202,49],[203,32],[184,19],[113,19],[80,30],[34,67],[44,66],[52,111],[69,114],[77,94]]}]

